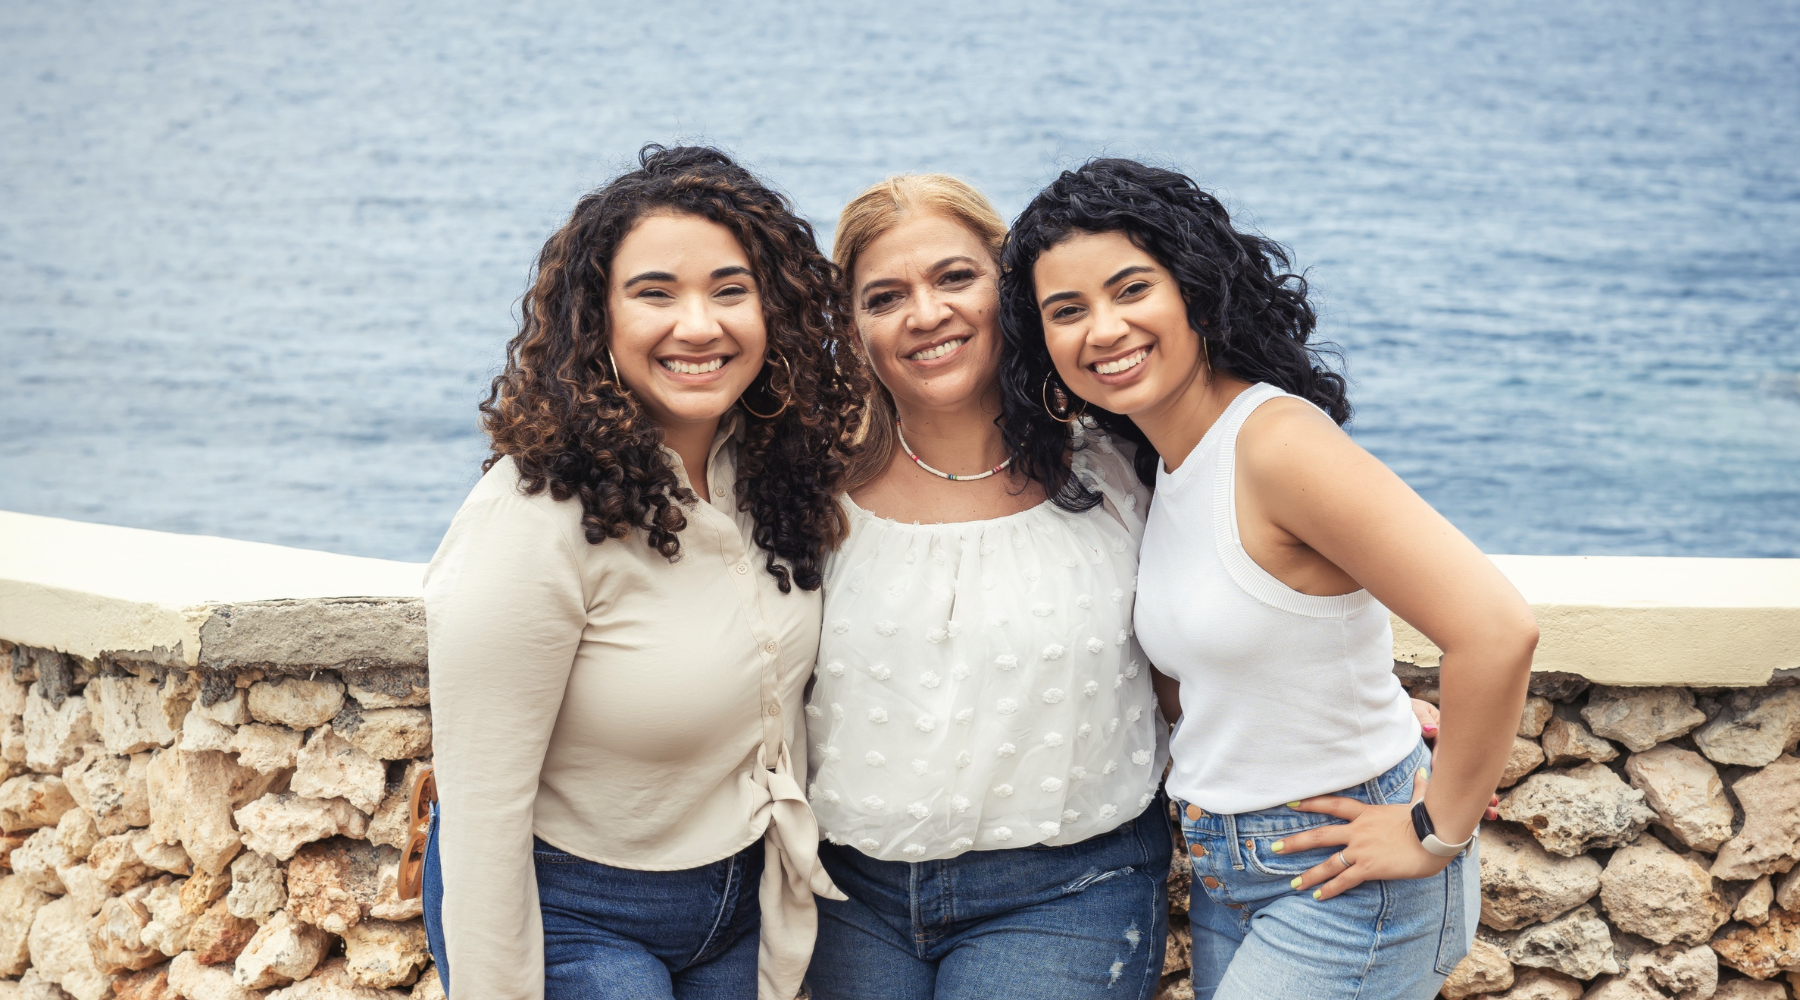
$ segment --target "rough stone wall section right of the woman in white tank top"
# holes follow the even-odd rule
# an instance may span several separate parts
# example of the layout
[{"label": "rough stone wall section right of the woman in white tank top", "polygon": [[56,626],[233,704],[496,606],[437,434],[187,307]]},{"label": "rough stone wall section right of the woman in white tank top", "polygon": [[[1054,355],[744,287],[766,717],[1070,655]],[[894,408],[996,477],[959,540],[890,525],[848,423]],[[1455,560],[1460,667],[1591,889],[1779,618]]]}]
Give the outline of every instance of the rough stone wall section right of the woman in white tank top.
[{"label": "rough stone wall section right of the woman in white tank top", "polygon": [[[1436,671],[1402,667],[1436,701]],[[1537,674],[1481,829],[1481,928],[1442,996],[1800,995],[1800,683],[1589,687]],[[1188,865],[1159,1000],[1188,1000]]]}]

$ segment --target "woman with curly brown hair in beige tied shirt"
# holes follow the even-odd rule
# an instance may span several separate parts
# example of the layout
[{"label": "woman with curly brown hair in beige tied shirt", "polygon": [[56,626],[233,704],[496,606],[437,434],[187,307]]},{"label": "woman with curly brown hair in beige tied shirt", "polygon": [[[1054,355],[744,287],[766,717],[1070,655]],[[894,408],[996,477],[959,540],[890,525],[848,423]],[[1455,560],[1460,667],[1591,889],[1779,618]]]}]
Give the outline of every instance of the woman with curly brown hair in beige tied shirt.
[{"label": "woman with curly brown hair in beige tied shirt", "polygon": [[868,379],[779,194],[639,164],[544,246],[427,572],[457,1000],[792,1000],[837,896],[790,746]]}]

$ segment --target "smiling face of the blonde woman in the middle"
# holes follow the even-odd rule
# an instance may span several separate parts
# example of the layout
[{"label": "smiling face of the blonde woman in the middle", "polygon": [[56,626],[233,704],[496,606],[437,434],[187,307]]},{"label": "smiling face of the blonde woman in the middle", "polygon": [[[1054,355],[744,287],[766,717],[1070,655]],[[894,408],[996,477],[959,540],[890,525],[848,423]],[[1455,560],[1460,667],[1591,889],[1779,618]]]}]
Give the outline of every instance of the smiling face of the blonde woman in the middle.
[{"label": "smiling face of the blonde woman in the middle", "polygon": [[857,331],[902,410],[999,392],[999,268],[961,223],[916,212],[857,257]]}]

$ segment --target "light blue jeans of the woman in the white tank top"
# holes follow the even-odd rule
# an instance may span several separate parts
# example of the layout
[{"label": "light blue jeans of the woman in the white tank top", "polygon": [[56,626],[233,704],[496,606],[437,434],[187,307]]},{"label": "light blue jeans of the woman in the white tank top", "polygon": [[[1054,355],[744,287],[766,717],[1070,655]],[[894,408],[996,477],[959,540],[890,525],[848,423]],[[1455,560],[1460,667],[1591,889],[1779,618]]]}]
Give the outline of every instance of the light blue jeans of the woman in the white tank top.
[{"label": "light blue jeans of the woman in the white tank top", "polygon": [[[1363,802],[1408,802],[1413,775],[1429,766],[1418,745],[1408,759],[1355,788]],[[1319,847],[1276,854],[1276,840],[1337,824],[1287,806],[1192,818],[1177,802],[1193,862],[1193,995],[1204,1000],[1427,1000],[1469,953],[1481,914],[1476,845],[1447,869],[1404,881],[1364,881],[1316,901],[1292,878],[1336,854]]]}]

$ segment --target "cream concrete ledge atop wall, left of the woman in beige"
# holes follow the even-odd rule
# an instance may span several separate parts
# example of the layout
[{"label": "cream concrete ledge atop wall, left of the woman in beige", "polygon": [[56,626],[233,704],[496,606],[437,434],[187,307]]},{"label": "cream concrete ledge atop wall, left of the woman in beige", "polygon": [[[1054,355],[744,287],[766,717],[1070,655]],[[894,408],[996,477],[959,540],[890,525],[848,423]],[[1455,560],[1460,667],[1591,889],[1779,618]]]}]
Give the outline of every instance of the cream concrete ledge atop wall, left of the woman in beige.
[{"label": "cream concrete ledge atop wall, left of the woman in beige", "polygon": [[0,511],[0,638],[171,667],[425,664],[419,563]]}]

